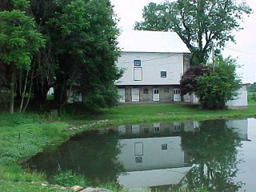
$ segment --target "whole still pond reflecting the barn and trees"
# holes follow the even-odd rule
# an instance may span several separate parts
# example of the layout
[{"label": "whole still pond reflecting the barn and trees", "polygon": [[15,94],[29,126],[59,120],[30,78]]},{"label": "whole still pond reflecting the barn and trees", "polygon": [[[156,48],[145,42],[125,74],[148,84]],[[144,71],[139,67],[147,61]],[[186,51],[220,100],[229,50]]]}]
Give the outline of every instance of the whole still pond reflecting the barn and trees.
[{"label": "whole still pond reflecting the barn and trees", "polygon": [[255,191],[255,126],[254,118],[120,125],[78,134],[26,163],[49,179],[73,170],[92,185]]}]

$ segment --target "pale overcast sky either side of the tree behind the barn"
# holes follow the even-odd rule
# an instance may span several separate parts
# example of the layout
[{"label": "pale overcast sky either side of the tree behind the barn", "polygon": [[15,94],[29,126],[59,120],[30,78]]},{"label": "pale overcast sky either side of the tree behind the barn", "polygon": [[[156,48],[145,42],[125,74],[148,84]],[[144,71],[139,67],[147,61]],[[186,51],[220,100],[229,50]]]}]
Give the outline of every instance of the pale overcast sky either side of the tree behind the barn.
[{"label": "pale overcast sky either side of the tree behind the barn", "polygon": [[[142,9],[150,2],[165,2],[165,0],[110,0],[114,11],[120,21],[118,26],[122,30],[132,30],[134,23],[142,21]],[[228,43],[222,52],[225,57],[237,58],[242,66],[238,73],[242,76],[242,82],[256,82],[256,0],[246,0],[254,10],[249,18],[245,17],[241,26],[244,30],[234,32],[236,44]]]}]

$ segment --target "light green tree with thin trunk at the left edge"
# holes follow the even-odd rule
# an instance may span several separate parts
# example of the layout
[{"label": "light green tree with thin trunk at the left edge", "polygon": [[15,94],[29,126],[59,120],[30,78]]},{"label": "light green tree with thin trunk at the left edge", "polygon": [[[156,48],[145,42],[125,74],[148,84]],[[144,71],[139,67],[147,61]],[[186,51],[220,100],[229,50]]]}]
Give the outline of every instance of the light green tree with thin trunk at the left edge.
[{"label": "light green tree with thin trunk at the left edge", "polygon": [[10,113],[14,113],[16,71],[29,70],[33,54],[44,46],[34,19],[26,15],[28,2],[13,1],[13,10],[0,12],[0,60],[10,67]]}]

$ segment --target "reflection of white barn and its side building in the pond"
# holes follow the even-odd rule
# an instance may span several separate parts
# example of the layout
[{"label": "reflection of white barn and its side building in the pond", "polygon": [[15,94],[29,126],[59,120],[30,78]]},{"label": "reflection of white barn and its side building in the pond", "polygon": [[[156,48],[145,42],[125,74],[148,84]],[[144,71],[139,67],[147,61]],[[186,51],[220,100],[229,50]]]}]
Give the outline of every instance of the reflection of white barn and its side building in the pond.
[{"label": "reflection of white barn and its side building in the pond", "polygon": [[[199,127],[195,121],[118,126],[118,161],[126,170],[118,182],[125,188],[177,185],[192,168],[182,150],[181,132],[198,132]],[[226,128],[247,139],[247,120],[226,121]]]}]

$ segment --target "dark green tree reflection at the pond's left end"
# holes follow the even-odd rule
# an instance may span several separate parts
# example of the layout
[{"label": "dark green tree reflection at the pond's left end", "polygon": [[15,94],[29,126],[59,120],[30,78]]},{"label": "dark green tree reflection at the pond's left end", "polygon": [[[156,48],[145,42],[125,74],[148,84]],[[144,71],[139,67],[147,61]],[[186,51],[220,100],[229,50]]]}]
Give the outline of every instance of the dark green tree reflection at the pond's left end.
[{"label": "dark green tree reflection at the pond's left end", "polygon": [[91,131],[71,138],[58,150],[38,154],[30,159],[29,165],[49,176],[56,174],[60,166],[62,170],[83,174],[92,182],[116,182],[123,170],[117,159],[119,153],[117,133]]}]

